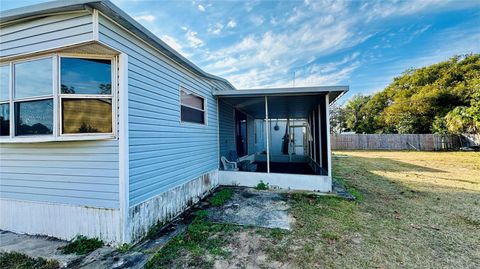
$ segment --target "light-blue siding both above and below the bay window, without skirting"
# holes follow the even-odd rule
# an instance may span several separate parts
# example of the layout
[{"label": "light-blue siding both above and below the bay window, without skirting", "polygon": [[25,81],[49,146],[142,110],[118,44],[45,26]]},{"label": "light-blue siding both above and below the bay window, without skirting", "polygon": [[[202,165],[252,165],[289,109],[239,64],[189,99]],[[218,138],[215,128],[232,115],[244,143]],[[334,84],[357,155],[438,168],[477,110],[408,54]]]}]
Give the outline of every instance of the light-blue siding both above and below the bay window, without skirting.
[{"label": "light-blue siding both above and below the bay window, without skirting", "polygon": [[[15,56],[90,41],[86,11],[35,18],[0,31],[0,55]],[[0,197],[119,207],[118,141],[0,144]]]}]

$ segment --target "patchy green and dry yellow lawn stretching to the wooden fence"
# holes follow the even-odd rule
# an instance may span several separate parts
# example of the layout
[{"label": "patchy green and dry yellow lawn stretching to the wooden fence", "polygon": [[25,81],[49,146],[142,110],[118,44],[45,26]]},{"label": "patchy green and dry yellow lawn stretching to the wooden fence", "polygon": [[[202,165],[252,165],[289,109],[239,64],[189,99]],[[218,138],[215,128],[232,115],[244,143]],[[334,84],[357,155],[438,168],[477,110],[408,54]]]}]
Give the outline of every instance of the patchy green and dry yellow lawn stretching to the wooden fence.
[{"label": "patchy green and dry yellow lawn stretching to the wooden fence", "polygon": [[480,268],[480,154],[336,152],[359,199],[292,194],[291,232],[208,223],[148,268]]}]

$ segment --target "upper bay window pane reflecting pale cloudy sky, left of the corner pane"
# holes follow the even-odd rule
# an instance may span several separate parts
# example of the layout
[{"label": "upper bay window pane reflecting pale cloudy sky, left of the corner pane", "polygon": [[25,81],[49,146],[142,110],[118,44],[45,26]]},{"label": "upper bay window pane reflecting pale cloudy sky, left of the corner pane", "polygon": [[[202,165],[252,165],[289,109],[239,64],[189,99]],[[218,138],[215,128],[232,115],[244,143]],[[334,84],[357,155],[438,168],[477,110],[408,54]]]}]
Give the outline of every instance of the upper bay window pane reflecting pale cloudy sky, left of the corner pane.
[{"label": "upper bay window pane reflecting pale cloudy sky, left of the corner pane", "polygon": [[52,58],[15,64],[15,98],[52,95]]}]

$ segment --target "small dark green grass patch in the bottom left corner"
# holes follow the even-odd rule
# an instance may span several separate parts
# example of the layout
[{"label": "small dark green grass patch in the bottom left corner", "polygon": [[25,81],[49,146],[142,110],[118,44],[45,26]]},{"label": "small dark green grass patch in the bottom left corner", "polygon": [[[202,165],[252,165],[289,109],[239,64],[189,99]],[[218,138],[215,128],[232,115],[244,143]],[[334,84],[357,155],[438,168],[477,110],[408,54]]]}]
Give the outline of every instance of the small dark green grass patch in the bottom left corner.
[{"label": "small dark green grass patch in the bottom left corner", "polygon": [[30,258],[27,255],[10,252],[0,253],[0,268],[9,269],[57,269],[60,268],[57,261],[42,258]]}]

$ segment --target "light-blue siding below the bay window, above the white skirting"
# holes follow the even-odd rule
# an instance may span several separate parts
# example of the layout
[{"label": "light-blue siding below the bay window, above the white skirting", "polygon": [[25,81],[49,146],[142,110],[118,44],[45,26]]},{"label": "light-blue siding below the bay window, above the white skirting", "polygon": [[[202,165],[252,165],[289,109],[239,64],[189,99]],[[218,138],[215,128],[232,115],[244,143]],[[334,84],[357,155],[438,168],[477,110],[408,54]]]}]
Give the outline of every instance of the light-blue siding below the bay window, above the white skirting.
[{"label": "light-blue siding below the bay window, above the white skirting", "polygon": [[0,197],[118,208],[118,141],[0,144]]}]

